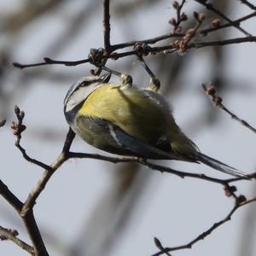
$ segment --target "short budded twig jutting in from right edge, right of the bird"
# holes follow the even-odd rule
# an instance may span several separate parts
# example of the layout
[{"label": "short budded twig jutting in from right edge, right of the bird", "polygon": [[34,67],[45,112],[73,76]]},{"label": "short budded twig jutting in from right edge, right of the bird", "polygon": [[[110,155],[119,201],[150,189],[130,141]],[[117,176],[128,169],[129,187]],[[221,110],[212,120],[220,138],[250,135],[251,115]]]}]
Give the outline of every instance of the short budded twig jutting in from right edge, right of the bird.
[{"label": "short budded twig jutting in from right edge, right of the bird", "polygon": [[256,133],[256,129],[253,128],[252,125],[249,125],[247,123],[247,121],[240,119],[235,113],[232,113],[228,108],[226,108],[224,106],[224,104],[222,103],[222,98],[220,96],[217,96],[216,89],[214,88],[214,86],[212,84],[207,84],[207,85],[202,84],[202,87],[205,90],[205,92],[207,93],[207,95],[210,96],[211,102],[215,107],[224,110],[224,112],[228,113],[232,119],[235,119],[241,125],[247,127],[247,129]]}]

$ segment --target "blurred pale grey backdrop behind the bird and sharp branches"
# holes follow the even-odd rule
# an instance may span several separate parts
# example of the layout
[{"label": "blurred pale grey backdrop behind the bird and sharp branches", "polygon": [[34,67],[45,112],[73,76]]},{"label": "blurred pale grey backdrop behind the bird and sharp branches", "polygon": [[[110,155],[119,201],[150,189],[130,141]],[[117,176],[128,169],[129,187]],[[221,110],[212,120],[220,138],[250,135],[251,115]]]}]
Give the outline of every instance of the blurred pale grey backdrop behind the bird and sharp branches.
[{"label": "blurred pale grey backdrop behind the bird and sharp branches", "polygon": [[[214,4],[230,19],[252,12],[240,1],[218,0]],[[195,26],[193,11],[207,15],[206,26],[216,18],[192,0],[185,3],[183,11],[192,22],[187,21],[188,27]],[[170,0],[111,1],[110,12],[112,44],[172,32],[168,20],[175,17]],[[241,26],[248,32],[256,31],[255,19]],[[20,70],[11,62],[40,62],[45,56],[76,61],[86,58],[90,48],[103,47],[102,1],[2,0],[0,32],[0,120],[7,119],[0,129],[0,178],[24,201],[43,170],[27,163],[15,148],[9,128],[15,120],[15,105],[26,113],[27,129],[21,144],[27,154],[50,164],[61,152],[68,131],[63,99],[69,86],[93,66],[51,65]],[[241,36],[241,32],[229,28],[195,40]],[[160,79],[177,124],[201,152],[243,172],[254,172],[255,135],[214,108],[201,83],[212,81],[224,105],[255,126],[255,44],[192,49],[183,56],[159,54],[145,59]],[[108,61],[107,65],[131,74],[135,84],[148,84],[148,74],[134,56]],[[79,137],[72,150],[106,154]],[[184,172],[228,177],[207,166],[159,163]],[[237,183],[237,188],[247,198],[256,194],[252,182]],[[136,164],[69,160],[50,179],[34,212],[50,255],[128,256],[156,253],[154,236],[166,247],[183,245],[224,218],[232,207],[233,201],[224,196],[218,184],[181,179]],[[199,241],[192,250],[172,255],[253,256],[255,216],[255,204],[242,207],[231,222]],[[30,243],[20,218],[3,198],[0,225],[19,230],[19,237]],[[11,241],[0,242],[0,254],[27,255]]]}]

